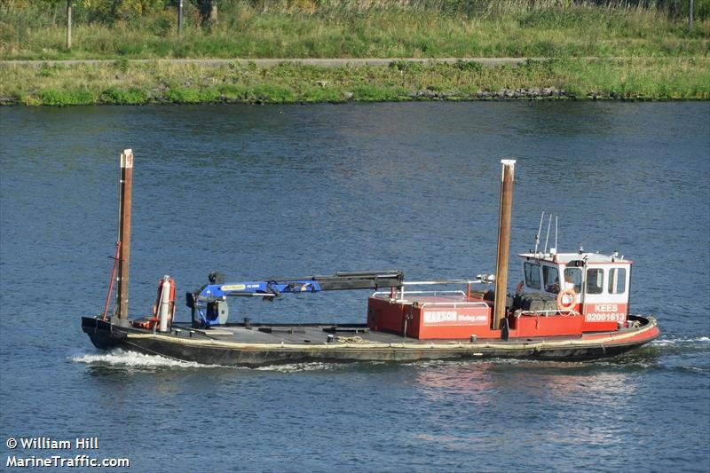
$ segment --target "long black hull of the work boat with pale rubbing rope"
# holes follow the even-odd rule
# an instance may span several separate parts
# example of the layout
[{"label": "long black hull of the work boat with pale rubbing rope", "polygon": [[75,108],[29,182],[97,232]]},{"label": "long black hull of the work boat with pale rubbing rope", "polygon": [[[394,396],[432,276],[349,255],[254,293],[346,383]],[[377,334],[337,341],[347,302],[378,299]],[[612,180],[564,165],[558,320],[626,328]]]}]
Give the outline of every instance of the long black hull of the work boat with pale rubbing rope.
[{"label": "long black hull of the work boat with pale rubbing rope", "polygon": [[642,327],[625,339],[582,342],[580,339],[552,342],[487,340],[473,343],[319,343],[311,345],[229,343],[214,338],[154,334],[134,327],[118,327],[101,319],[83,317],[83,331],[97,348],[122,348],[170,359],[206,365],[258,367],[301,362],[357,362],[452,359],[536,359],[584,361],[614,357],[648,343],[659,334],[655,320],[637,318]]}]

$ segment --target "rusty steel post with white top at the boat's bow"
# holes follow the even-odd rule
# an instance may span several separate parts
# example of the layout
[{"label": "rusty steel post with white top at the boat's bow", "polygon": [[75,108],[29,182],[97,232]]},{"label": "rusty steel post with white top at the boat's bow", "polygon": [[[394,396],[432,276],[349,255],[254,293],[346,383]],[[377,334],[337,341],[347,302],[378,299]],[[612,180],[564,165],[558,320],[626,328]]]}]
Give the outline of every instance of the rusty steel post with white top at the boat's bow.
[{"label": "rusty steel post with white top at the boat's bow", "polygon": [[121,192],[119,200],[118,240],[121,242],[118,264],[118,319],[128,319],[128,282],[130,263],[130,200],[133,185],[133,151],[121,154]]}]

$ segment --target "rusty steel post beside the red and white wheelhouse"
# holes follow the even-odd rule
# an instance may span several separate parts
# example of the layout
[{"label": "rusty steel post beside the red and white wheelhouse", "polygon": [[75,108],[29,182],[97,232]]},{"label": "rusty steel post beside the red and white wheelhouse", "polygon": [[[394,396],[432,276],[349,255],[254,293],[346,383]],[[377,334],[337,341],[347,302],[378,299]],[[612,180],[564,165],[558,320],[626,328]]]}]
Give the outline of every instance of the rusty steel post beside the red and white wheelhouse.
[{"label": "rusty steel post beside the red and white wheelhouse", "polygon": [[501,328],[508,296],[508,259],[510,250],[510,213],[513,209],[513,178],[516,161],[501,160],[501,209],[498,219],[498,256],[495,263],[495,306],[493,329]]}]

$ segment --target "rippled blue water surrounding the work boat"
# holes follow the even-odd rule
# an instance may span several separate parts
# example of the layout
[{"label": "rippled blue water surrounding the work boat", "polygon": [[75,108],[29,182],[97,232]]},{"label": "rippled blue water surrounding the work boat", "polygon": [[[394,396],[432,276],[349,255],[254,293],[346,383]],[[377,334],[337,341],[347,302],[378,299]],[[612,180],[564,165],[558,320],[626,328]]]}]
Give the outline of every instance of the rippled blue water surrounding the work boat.
[{"label": "rippled blue water surrounding the work boat", "polygon": [[[103,308],[129,147],[135,316],[164,273],[182,294],[213,270],[493,272],[512,157],[511,253],[553,212],[561,250],[635,262],[631,310],[663,335],[589,363],[246,369],[97,351],[79,318]],[[0,153],[0,470],[58,454],[5,444],[30,437],[98,437],[66,455],[135,471],[710,469],[708,103],[5,107]],[[512,287],[515,256],[511,272]],[[366,297],[230,308],[361,322]]]}]

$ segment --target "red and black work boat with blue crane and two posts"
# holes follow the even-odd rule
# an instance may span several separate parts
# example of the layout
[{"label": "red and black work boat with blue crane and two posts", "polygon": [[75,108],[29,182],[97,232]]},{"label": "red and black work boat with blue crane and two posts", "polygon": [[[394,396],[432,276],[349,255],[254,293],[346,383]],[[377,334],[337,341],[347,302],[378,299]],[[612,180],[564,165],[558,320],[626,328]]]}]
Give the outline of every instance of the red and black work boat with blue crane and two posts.
[{"label": "red and black work boat with blue crane and two posts", "polygon": [[[82,318],[83,331],[99,349],[248,367],[309,361],[565,361],[611,357],[659,336],[656,319],[629,313],[631,261],[617,253],[557,252],[547,244],[539,251],[540,231],[535,249],[519,255],[523,277],[515,294],[509,294],[512,160],[502,161],[495,274],[406,281],[401,271],[393,270],[235,282],[212,272],[207,284],[186,293],[192,319],[183,323],[173,320],[176,286],[166,275],[159,281],[153,312],[129,319],[130,150],[124,151],[121,163],[120,236],[106,304],[102,314]],[[114,281],[116,304],[109,315]],[[233,301],[353,289],[373,291],[363,323],[229,320]]]}]

